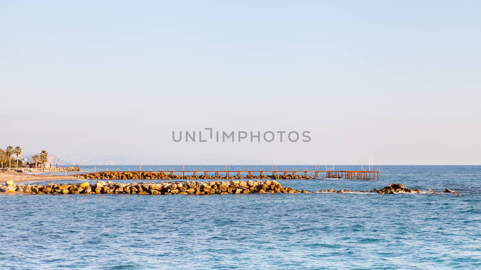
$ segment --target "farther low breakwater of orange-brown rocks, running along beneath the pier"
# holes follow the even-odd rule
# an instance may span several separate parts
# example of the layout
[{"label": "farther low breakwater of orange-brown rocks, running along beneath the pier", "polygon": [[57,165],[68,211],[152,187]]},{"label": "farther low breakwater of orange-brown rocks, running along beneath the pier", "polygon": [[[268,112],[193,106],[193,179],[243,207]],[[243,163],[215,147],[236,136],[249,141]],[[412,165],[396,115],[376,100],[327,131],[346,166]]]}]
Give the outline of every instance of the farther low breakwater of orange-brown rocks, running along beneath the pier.
[{"label": "farther low breakwater of orange-brown rocks, running along beneath the pier", "polygon": [[[217,180],[217,179],[240,179],[237,176],[231,175],[219,175],[218,177],[214,175],[185,175],[180,174],[166,174],[165,172],[90,172],[75,175],[81,179],[99,179],[99,180],[139,180],[139,179],[161,179],[161,180]],[[241,179],[311,179],[312,177],[307,175],[252,175],[252,176],[242,176]]]}]

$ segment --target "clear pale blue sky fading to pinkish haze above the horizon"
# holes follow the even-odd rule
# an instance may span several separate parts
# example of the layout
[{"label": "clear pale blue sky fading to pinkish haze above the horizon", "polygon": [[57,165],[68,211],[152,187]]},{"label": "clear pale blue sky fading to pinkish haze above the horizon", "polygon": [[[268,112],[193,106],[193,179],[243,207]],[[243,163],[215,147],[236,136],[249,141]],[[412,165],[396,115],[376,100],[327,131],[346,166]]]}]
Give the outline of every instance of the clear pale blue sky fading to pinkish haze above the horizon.
[{"label": "clear pale blue sky fading to pinkish haze above the horizon", "polygon": [[[4,0],[0,147],[83,164],[480,165],[480,13],[463,0]],[[172,139],[204,128],[311,140]]]}]

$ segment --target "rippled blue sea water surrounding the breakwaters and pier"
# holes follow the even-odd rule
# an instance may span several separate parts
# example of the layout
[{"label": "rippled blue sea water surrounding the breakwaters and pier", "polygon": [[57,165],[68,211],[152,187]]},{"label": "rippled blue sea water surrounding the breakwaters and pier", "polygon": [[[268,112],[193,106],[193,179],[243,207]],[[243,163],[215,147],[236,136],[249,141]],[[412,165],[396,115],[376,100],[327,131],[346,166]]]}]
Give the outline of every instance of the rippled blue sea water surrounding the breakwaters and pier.
[{"label": "rippled blue sea water surrounding the breakwaters and pier", "polygon": [[[134,165],[107,167],[109,171],[138,170]],[[142,170],[170,167],[181,168],[143,165]],[[198,171],[225,169],[195,167]],[[234,167],[258,169],[231,166],[231,170]],[[278,165],[281,168],[312,170],[314,166]],[[336,166],[345,168],[360,166]],[[423,192],[0,195],[0,268],[481,268],[481,166],[380,169],[379,181],[279,182],[309,191],[367,190],[401,183]],[[82,166],[82,170],[91,171],[93,166]],[[444,188],[462,196],[434,194]]]}]

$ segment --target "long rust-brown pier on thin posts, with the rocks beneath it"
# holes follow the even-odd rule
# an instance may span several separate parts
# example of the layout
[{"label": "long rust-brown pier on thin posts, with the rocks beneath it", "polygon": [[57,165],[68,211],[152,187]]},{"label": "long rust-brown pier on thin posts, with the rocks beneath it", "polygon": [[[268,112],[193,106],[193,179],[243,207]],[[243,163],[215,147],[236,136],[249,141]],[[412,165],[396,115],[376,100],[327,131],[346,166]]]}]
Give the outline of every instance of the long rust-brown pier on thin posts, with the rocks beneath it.
[{"label": "long rust-brown pier on thin posts, with the rocks beneath it", "polygon": [[[313,179],[313,178],[335,178],[335,179],[352,179],[352,180],[379,180],[378,171],[334,171],[334,170],[202,170],[196,169],[186,170],[160,170],[160,171],[105,171],[105,172],[89,172],[74,174],[74,176],[89,175],[92,179],[105,179],[105,177],[114,177],[114,179]],[[322,177],[321,177],[322,175]],[[324,177],[325,176],[325,177]],[[98,178],[103,177],[103,178]],[[138,177],[138,178],[137,178]]]}]

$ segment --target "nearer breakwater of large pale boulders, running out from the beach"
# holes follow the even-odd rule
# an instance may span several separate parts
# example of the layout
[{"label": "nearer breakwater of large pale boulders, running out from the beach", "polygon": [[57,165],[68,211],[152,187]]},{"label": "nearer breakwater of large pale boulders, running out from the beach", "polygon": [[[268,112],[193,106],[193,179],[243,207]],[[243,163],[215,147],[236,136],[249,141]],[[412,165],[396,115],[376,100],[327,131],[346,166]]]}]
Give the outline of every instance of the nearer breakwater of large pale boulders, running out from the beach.
[{"label": "nearer breakwater of large pale boulders, running out from the beach", "polygon": [[283,187],[277,181],[210,181],[210,182],[163,182],[163,183],[114,183],[97,181],[81,184],[15,185],[6,181],[1,192],[24,192],[29,194],[247,194],[247,193],[308,193],[306,190]]}]

